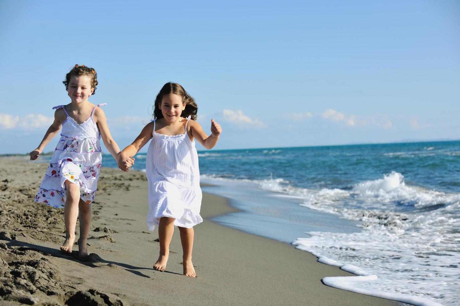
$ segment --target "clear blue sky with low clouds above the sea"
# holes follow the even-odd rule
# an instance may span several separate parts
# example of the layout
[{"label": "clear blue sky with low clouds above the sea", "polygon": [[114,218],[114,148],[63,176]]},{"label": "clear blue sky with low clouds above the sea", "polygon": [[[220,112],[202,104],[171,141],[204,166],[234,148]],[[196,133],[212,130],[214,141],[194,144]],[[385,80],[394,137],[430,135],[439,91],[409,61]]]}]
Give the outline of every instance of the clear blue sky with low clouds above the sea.
[{"label": "clear blue sky with low clouds above the sea", "polygon": [[460,139],[460,1],[155,2],[0,0],[0,154],[38,146],[77,63],[121,148],[169,81],[216,149]]}]

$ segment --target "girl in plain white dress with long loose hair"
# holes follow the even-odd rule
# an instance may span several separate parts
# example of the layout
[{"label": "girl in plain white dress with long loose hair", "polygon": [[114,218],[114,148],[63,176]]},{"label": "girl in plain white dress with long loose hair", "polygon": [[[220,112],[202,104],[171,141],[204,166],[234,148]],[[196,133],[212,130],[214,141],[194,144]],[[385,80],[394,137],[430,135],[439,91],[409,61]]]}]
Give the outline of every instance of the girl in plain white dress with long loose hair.
[{"label": "girl in plain white dress with long loose hair", "polygon": [[[128,171],[132,156],[146,145],[146,175],[149,182],[147,226],[158,226],[160,256],[154,268],[164,271],[174,226],[178,226],[183,248],[184,275],[196,277],[192,264],[193,226],[201,223],[201,188],[195,141],[207,149],[216,145],[222,129],[211,120],[211,135],[196,122],[195,100],[177,83],[166,83],[156,96],[155,119],[121,151],[118,167]],[[192,119],[192,120],[190,120]]]}]

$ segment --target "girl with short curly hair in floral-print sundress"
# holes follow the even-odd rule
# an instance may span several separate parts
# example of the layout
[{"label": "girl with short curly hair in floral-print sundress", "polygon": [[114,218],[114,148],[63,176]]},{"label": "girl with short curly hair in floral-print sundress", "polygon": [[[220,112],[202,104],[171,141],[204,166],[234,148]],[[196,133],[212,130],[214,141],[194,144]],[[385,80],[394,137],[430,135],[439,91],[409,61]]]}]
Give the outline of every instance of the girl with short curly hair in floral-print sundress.
[{"label": "girl with short curly hair in floral-print sundress", "polygon": [[75,241],[77,216],[80,219],[78,255],[87,256],[86,238],[91,222],[91,202],[98,187],[102,165],[99,139],[117,160],[120,149],[110,136],[104,111],[88,101],[98,85],[98,75],[93,68],[75,65],[63,81],[70,104],[55,106],[54,122],[46,131],[38,148],[30,152],[30,160],[37,159],[45,146],[61,130],[35,202],[54,207],[64,207],[66,239],[61,250],[72,253]]}]

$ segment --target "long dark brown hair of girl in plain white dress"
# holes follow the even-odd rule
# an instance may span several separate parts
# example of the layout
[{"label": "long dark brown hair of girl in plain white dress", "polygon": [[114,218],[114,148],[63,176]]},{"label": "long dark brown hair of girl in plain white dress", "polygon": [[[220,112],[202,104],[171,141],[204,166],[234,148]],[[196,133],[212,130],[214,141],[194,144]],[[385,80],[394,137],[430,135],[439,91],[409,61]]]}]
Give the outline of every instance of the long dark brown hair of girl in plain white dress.
[{"label": "long dark brown hair of girl in plain white dress", "polygon": [[190,119],[196,120],[198,106],[196,105],[195,99],[193,99],[180,84],[172,82],[164,84],[158,95],[156,95],[155,105],[153,106],[153,117],[157,119],[163,118],[160,104],[161,100],[163,100],[163,96],[169,94],[182,96],[182,103],[185,104],[185,109],[182,111],[180,117],[187,118],[190,115]]}]

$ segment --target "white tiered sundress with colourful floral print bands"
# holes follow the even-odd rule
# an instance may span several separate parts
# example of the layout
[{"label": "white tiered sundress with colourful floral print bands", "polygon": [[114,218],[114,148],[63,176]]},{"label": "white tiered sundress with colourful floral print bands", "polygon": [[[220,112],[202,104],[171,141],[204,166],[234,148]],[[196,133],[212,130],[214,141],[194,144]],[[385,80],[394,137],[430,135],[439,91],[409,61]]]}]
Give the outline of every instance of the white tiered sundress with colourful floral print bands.
[{"label": "white tiered sundress with colourful floral print bands", "polygon": [[91,117],[81,124],[69,116],[63,105],[53,107],[53,109],[62,108],[67,119],[62,124],[61,139],[54,150],[40,189],[35,195],[35,202],[43,202],[58,208],[64,207],[66,180],[80,186],[80,198],[87,204],[94,200],[102,165],[102,150],[99,145],[101,134],[93,115],[96,107],[106,104],[95,106]]}]

